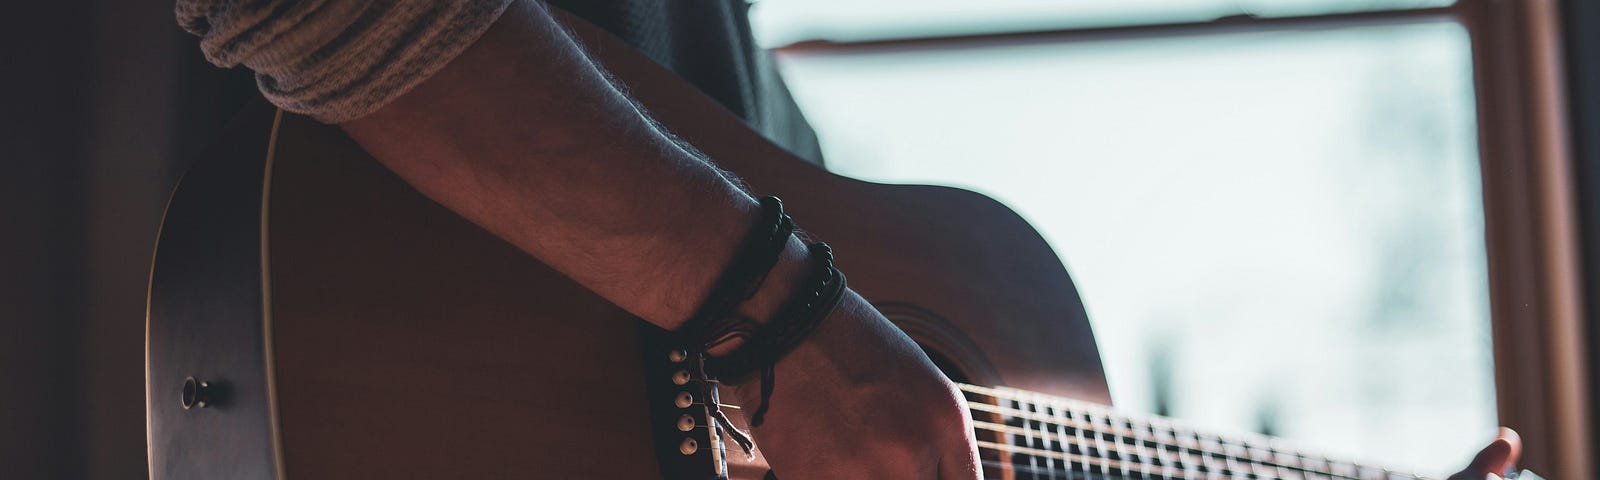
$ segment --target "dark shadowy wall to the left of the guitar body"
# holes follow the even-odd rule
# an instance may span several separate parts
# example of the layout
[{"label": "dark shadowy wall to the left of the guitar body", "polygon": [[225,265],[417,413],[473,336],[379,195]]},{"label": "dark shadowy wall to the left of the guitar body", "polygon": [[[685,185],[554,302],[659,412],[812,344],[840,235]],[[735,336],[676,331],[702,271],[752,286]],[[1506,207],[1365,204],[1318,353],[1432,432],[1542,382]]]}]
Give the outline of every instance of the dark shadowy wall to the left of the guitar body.
[{"label": "dark shadowy wall to the left of the guitar body", "polygon": [[166,0],[18,2],[0,40],[0,478],[141,478],[160,211],[253,88]]}]

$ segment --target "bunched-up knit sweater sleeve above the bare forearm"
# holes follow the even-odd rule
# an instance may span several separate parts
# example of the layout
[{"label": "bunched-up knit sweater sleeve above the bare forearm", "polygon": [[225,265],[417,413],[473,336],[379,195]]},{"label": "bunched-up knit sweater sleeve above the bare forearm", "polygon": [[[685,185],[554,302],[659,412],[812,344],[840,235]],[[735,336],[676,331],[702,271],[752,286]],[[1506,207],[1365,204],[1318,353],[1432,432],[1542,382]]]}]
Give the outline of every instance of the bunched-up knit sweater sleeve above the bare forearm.
[{"label": "bunched-up knit sweater sleeve above the bare forearm", "polygon": [[178,0],[205,58],[290,112],[360,118],[434,75],[514,0]]}]

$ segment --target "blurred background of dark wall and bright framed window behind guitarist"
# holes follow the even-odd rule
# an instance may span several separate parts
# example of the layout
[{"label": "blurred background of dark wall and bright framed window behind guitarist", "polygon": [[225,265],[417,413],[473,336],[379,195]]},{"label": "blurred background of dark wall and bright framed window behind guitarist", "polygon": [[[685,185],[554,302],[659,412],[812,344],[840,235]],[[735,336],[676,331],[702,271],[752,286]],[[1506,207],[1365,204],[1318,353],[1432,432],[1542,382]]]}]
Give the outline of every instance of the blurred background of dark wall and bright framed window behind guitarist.
[{"label": "blurred background of dark wall and bright framed window behind guitarist", "polygon": [[[254,86],[203,62],[171,2],[19,8],[0,29],[0,478],[141,478],[162,205]],[[973,189],[1043,232],[1118,408],[1430,474],[1498,424],[1546,472],[1600,456],[1592,2],[750,18],[834,171]]]}]

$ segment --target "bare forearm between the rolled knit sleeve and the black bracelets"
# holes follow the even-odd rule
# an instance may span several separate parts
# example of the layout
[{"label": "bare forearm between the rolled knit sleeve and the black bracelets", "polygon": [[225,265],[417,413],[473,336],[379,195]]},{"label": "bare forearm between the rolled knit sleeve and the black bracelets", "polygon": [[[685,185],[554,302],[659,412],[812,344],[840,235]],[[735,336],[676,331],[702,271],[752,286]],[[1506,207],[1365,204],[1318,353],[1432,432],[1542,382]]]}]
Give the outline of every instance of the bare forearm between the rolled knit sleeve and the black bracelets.
[{"label": "bare forearm between the rolled knit sleeve and the black bracelets", "polygon": [[536,2],[342,126],[422,194],[664,328],[698,307],[758,216]]}]

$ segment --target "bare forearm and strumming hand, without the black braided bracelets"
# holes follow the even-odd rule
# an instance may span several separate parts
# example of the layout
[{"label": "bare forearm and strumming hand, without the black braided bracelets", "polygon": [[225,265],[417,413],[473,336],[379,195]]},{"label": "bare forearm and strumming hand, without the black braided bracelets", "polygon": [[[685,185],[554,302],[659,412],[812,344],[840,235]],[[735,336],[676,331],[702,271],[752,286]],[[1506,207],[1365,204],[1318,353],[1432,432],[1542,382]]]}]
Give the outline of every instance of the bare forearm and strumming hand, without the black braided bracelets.
[{"label": "bare forearm and strumming hand, without the black braided bracelets", "polygon": [[[443,206],[677,330],[760,206],[659,131],[541,8],[517,2],[430,78],[341,125]],[[806,267],[790,238],[741,314],[770,318]],[[861,296],[765,373],[728,397],[770,406],[760,445],[784,478],[978,478],[960,392]]]}]

